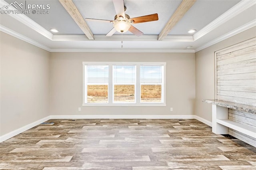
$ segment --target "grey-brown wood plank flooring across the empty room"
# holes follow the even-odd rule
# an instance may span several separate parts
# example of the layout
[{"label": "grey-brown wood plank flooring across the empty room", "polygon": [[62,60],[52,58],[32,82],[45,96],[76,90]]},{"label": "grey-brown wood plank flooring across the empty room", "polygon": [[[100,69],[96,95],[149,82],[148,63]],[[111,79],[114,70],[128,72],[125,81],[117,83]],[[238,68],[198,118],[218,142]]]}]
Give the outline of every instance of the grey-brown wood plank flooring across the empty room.
[{"label": "grey-brown wood plank flooring across the empty room", "polygon": [[256,148],[195,119],[51,119],[0,143],[1,170],[255,170]]}]

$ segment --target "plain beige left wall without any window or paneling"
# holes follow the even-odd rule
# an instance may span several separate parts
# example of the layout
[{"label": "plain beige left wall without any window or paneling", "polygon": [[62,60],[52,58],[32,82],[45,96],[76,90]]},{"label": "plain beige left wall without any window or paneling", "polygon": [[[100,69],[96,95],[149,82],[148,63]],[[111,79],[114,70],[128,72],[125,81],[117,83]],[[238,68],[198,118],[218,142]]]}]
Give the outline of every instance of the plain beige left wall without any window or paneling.
[{"label": "plain beige left wall without any window or paneling", "polygon": [[0,32],[0,136],[49,115],[50,52]]}]

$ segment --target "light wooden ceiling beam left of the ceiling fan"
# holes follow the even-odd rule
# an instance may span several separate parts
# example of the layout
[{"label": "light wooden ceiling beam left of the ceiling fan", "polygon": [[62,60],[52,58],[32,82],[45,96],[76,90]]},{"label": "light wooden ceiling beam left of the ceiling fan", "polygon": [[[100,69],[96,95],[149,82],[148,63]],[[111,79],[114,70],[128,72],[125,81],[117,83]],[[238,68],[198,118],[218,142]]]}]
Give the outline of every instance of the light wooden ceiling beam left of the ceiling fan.
[{"label": "light wooden ceiling beam left of the ceiling fan", "polygon": [[73,18],[76,24],[80,27],[80,29],[84,32],[89,40],[94,40],[94,36],[89,26],[84,21],[84,18],[76,8],[74,2],[72,0],[59,0],[60,4],[66,9],[68,14]]}]

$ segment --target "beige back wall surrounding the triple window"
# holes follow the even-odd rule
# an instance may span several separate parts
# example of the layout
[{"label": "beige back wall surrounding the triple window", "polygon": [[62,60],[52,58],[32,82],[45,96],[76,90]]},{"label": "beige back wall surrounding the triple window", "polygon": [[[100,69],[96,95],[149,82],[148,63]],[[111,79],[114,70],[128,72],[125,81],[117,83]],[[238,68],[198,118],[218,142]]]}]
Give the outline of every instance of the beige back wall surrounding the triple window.
[{"label": "beige back wall surrounding the triple window", "polygon": [[[82,107],[82,61],[166,62],[166,107]],[[194,114],[194,53],[51,53],[50,73],[50,115]]]}]

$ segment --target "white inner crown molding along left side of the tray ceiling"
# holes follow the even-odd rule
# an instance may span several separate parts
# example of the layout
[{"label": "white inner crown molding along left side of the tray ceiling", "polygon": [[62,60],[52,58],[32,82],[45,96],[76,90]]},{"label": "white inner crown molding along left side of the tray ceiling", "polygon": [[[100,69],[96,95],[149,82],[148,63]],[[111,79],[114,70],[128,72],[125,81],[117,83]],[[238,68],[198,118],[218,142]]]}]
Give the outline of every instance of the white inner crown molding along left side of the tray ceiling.
[{"label": "white inner crown molding along left side of the tray ceiling", "polygon": [[[0,6],[4,6],[4,5],[9,5],[7,2],[5,2],[4,0],[0,0]],[[10,10],[16,10],[13,6],[9,6]],[[29,28],[31,28],[32,30],[35,30],[36,32],[38,32],[39,34],[41,34],[42,36],[45,36],[46,38],[52,40],[52,36],[53,34],[50,33],[49,31],[47,31],[45,28],[43,28],[42,26],[40,26],[39,24],[37,24],[36,22],[34,22],[32,19],[30,19],[28,16],[26,16],[25,14],[8,14],[9,16],[11,16],[12,18],[18,20],[19,22],[21,22],[22,24],[25,24],[26,26],[28,26]]]}]

